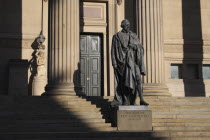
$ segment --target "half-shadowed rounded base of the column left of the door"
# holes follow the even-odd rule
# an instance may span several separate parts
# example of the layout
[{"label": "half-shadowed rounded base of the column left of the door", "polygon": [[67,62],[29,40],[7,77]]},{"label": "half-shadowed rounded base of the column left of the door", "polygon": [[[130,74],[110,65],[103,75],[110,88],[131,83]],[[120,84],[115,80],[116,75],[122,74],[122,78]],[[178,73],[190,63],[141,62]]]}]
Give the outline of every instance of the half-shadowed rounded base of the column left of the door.
[{"label": "half-shadowed rounded base of the column left of the door", "polygon": [[45,93],[42,96],[76,96],[74,86],[72,84],[58,84],[45,87]]}]

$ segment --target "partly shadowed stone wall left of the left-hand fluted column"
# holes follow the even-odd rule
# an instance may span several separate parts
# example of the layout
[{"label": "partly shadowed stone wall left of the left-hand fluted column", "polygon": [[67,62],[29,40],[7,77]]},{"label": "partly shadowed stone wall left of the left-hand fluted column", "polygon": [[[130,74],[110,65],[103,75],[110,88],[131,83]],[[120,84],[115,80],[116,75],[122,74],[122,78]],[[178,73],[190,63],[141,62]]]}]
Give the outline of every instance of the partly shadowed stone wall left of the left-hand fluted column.
[{"label": "partly shadowed stone wall left of the left-hand fluted column", "polygon": [[[9,60],[26,59],[31,62],[33,52],[38,47],[36,38],[41,30],[43,30],[45,36],[48,36],[48,2],[43,2],[43,11],[42,1],[37,0],[8,0],[1,1],[0,5],[0,17],[2,19],[0,21],[0,92],[7,95],[9,87]],[[43,22],[41,22],[42,13]],[[46,46],[45,51],[48,50],[47,40],[44,43]],[[31,95],[33,75],[29,67],[30,64],[28,64],[29,70],[27,75],[28,95]],[[45,67],[47,67],[47,62]]]}]

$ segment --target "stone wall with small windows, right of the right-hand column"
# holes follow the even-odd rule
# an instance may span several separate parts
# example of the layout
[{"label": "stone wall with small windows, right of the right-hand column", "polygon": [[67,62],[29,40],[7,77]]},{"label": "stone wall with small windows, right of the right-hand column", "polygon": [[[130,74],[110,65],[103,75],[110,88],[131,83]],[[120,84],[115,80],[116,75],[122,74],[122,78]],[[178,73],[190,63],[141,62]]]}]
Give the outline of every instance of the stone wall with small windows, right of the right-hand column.
[{"label": "stone wall with small windows, right of the right-hand column", "polygon": [[[210,64],[207,0],[164,0],[165,79],[173,96],[209,96],[209,79],[202,79],[202,66]],[[176,18],[175,18],[176,17]],[[181,64],[183,79],[170,78],[170,65]],[[198,78],[187,77],[188,65],[198,65]]]}]

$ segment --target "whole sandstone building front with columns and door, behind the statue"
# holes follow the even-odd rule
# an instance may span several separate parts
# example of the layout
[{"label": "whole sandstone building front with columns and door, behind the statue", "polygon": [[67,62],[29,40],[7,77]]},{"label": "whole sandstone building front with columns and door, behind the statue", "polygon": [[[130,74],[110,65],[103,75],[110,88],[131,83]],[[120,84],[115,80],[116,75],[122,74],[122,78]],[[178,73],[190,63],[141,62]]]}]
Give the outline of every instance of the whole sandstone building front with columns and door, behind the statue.
[{"label": "whole sandstone building front with columns and door, behind the statue", "polygon": [[1,1],[0,94],[113,96],[111,42],[126,18],[145,49],[145,94],[210,96],[209,13],[208,0]]}]

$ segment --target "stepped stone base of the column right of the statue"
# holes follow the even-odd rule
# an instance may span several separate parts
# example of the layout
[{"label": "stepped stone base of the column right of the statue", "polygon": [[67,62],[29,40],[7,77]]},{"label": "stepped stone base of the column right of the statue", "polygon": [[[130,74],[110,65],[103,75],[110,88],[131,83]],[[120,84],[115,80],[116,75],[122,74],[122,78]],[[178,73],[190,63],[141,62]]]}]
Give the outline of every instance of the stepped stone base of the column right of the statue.
[{"label": "stepped stone base of the column right of the statue", "polygon": [[172,96],[165,84],[143,84],[144,96]]}]

